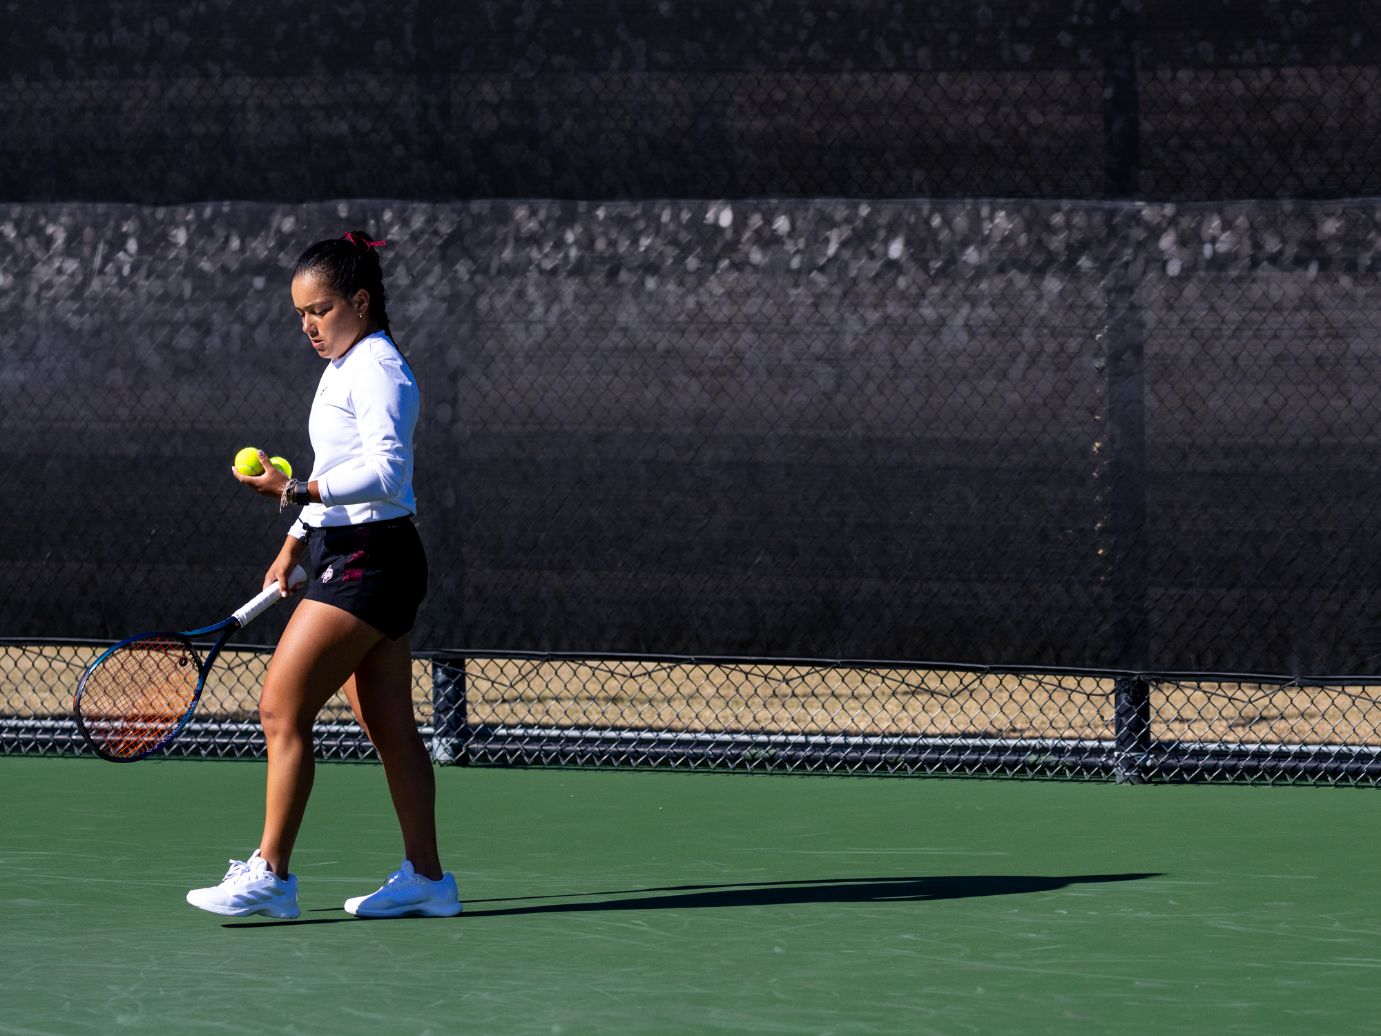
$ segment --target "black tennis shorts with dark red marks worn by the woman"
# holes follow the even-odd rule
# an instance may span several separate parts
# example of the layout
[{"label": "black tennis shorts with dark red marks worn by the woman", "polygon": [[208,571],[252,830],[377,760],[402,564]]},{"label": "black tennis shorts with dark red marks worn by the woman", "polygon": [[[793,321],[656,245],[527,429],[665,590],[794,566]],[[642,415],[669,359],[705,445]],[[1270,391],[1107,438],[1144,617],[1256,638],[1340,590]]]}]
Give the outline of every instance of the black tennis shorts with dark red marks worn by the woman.
[{"label": "black tennis shorts with dark red marks worn by the woman", "polygon": [[308,528],[307,599],[336,605],[396,641],[427,597],[427,554],[412,518]]}]

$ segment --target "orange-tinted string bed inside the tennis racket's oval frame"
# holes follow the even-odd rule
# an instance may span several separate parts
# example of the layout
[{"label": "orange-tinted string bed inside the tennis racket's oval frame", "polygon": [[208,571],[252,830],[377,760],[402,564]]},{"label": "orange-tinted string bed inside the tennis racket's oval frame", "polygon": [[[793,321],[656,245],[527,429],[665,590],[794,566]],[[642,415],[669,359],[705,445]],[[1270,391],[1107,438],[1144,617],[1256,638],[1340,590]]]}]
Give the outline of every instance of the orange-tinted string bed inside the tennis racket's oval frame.
[{"label": "orange-tinted string bed inside the tennis racket's oval frame", "polygon": [[131,758],[173,735],[196,702],[200,662],[178,637],[142,637],[109,655],[86,680],[80,713],[105,753]]}]

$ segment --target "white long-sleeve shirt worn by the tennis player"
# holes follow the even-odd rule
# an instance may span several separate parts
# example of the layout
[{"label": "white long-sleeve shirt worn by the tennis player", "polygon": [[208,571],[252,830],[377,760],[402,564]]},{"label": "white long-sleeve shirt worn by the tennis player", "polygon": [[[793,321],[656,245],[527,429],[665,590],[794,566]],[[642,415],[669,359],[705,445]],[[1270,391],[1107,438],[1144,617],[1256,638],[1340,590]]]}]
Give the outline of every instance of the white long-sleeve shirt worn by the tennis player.
[{"label": "white long-sleeve shirt worn by the tennis player", "polygon": [[417,512],[413,497],[413,430],[417,381],[388,334],[360,338],[322,372],[307,430],[311,479],[322,503],[308,504],[289,536],[305,526],[359,525]]}]

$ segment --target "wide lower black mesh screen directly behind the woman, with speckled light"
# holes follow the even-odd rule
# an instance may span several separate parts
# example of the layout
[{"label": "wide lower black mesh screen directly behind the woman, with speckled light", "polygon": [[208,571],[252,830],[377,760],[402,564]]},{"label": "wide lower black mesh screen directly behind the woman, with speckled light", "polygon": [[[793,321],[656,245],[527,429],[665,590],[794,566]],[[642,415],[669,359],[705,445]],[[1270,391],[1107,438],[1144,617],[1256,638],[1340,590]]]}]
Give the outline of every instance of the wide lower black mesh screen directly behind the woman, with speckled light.
[{"label": "wide lower black mesh screen directly behind the woman, with speckled light", "polygon": [[8,634],[250,595],[287,519],[231,457],[309,461],[287,267],[360,224],[420,646],[1375,667],[1371,202],[11,207]]}]

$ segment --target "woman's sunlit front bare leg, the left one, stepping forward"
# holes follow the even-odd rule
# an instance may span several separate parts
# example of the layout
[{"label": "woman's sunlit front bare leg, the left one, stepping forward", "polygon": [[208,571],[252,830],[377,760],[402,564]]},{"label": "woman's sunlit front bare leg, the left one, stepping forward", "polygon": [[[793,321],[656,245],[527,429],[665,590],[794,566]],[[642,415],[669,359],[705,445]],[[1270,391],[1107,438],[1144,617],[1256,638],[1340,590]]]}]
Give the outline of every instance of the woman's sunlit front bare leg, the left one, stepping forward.
[{"label": "woman's sunlit front bare leg, the left one, stepping forward", "polygon": [[349,612],[302,601],[279,640],[260,696],[268,743],[268,794],[260,855],[287,877],[293,844],[312,793],[312,724],[384,635]]}]

